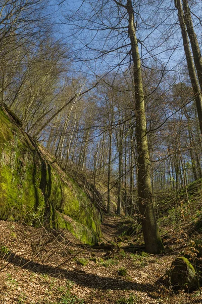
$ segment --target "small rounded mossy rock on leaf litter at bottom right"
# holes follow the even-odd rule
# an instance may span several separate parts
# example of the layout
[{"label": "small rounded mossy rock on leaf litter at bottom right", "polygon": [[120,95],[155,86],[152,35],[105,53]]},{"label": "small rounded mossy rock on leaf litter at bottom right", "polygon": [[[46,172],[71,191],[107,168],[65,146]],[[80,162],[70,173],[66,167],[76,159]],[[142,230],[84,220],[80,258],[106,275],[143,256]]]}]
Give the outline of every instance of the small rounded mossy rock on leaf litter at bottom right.
[{"label": "small rounded mossy rock on leaf litter at bottom right", "polygon": [[195,269],[186,257],[177,257],[172,262],[170,280],[174,289],[194,289],[197,287]]}]

